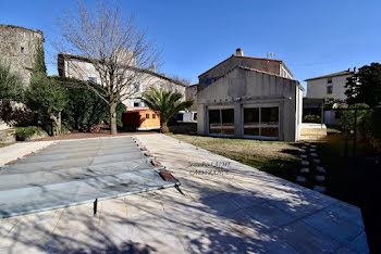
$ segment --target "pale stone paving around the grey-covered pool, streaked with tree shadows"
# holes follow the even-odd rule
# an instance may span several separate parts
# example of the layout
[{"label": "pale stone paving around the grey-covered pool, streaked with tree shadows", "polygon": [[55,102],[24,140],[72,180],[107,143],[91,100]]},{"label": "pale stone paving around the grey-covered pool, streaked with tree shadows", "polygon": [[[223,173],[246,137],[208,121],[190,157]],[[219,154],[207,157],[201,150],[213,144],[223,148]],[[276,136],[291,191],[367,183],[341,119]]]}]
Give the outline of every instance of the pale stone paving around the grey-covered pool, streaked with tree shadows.
[{"label": "pale stone paving around the grey-covered pool, streaked with tree shadows", "polygon": [[0,252],[368,252],[355,206],[167,136],[138,139],[184,194],[101,201],[97,216],[84,204],[2,219]]}]

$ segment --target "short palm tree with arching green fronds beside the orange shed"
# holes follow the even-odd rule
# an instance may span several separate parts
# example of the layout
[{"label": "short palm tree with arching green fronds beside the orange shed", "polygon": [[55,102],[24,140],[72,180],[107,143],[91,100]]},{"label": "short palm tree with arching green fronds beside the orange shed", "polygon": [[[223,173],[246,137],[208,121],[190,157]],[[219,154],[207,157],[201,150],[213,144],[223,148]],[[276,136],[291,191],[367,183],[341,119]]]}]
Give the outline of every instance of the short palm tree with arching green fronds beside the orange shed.
[{"label": "short palm tree with arching green fronds beside the orange shed", "polygon": [[160,126],[162,132],[169,132],[168,122],[174,117],[179,111],[192,106],[192,101],[181,101],[183,96],[180,92],[158,91],[151,87],[150,91],[144,94],[143,101],[152,111],[160,112]]}]

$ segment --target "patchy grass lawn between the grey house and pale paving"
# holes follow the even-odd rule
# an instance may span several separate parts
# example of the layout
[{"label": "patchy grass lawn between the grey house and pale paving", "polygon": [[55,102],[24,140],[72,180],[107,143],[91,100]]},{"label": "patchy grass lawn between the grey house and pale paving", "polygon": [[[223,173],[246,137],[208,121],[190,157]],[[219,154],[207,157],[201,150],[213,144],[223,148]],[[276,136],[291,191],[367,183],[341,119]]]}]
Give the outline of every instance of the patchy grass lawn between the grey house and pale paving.
[{"label": "patchy grass lawn between the grey house and pale paving", "polygon": [[300,143],[174,134],[169,136],[290,181],[296,181],[300,169],[298,156]]}]

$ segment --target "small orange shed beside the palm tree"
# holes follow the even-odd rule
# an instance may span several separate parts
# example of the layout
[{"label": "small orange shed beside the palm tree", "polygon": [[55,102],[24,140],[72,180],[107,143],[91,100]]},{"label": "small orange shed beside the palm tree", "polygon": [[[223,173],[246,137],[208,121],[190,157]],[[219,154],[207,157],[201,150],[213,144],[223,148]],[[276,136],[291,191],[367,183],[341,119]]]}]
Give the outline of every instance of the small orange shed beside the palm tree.
[{"label": "small orange shed beside the palm tree", "polygon": [[151,110],[133,110],[123,113],[123,127],[128,130],[160,129],[160,115]]}]

